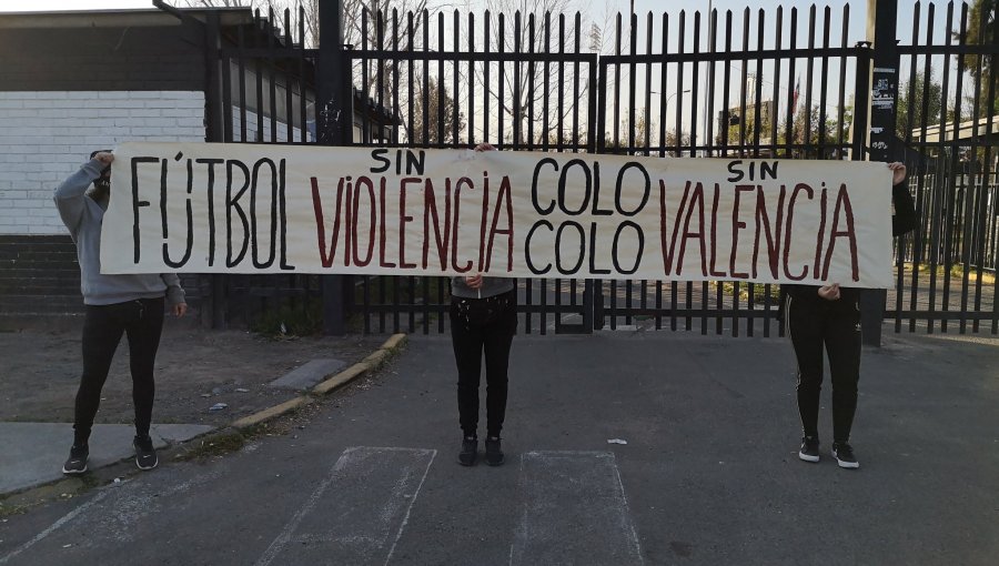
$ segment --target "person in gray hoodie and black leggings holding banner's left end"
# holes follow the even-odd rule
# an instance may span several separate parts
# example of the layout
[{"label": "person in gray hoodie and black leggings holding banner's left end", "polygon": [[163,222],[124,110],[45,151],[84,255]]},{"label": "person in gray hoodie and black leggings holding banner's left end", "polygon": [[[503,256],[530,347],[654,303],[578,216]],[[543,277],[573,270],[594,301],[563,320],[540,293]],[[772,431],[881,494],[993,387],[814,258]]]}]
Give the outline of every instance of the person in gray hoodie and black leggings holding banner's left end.
[{"label": "person in gray hoodie and black leggings holding banner's left end", "polygon": [[[188,311],[184,290],[176,274],[101,273],[101,224],[111,191],[110,151],[91,153],[90,161],[56,189],[56,205],[73,243],[80,264],[83,294],[83,374],[77,391],[73,417],[73,445],[62,466],[63,474],[87,472],[88,442],[108,378],[111,360],[121,342],[129,340],[132,373],[132,401],[135,405],[135,465],[152,469],[157,452],[149,436],[155,384],[153,366],[163,329],[164,299],[171,311],[183,316]],[[91,183],[93,188],[88,191]]]}]

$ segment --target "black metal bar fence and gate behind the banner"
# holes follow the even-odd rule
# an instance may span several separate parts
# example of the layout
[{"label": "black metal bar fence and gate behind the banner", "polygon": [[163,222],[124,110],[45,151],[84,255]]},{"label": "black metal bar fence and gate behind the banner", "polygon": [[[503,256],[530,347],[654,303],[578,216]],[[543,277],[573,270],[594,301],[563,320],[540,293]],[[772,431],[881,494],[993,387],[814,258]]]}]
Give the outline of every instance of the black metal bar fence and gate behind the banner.
[{"label": "black metal bar fence and gate behind the banner", "polygon": [[[898,239],[886,310],[896,331],[949,331],[956,321],[962,333],[999,332],[999,112],[990,72],[999,43],[993,14],[973,22],[968,14],[968,6],[949,3],[941,23],[935,4],[917,3],[911,39],[898,47],[895,150],[909,168],[922,225]],[[304,13],[291,16],[260,18],[208,54],[222,70],[216,139],[315,143],[320,52],[304,47]],[[618,16],[607,46],[606,33],[578,13],[365,11],[361,39],[346,51],[353,143],[864,160],[874,57],[869,43],[849,40],[849,22],[848,4]],[[344,279],[357,330],[445,330],[446,279]],[[229,303],[246,304],[240,296],[254,293],[245,277],[218,280],[214,291]],[[306,281],[255,293],[306,305],[320,296]],[[623,325],[780,332],[775,285],[522,280],[518,287],[527,333]]]}]

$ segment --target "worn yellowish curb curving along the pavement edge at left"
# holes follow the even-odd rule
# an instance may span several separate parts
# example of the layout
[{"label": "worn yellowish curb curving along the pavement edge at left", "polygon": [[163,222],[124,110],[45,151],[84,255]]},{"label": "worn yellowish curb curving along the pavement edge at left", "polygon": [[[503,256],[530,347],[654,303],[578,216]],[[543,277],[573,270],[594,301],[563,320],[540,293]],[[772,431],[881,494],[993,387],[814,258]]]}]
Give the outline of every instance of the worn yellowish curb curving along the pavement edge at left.
[{"label": "worn yellowish curb curving along the pavement edge at left", "polygon": [[[194,447],[193,449],[196,451],[199,447],[242,445],[246,439],[248,433],[253,428],[311,405],[354,380],[379,370],[389,360],[394,357],[407,342],[406,334],[393,334],[374,353],[346,370],[326,375],[324,381],[313,386],[304,394],[300,394],[294,398],[279,403],[278,405],[263,411],[258,411],[252,415],[241,417],[229,425],[220,426],[200,434],[183,443],[171,444],[163,447],[159,451],[160,463],[171,462],[179,457],[183,457],[185,453],[191,451],[192,446]],[[71,496],[87,491],[94,485],[108,484],[117,478],[128,477],[133,473],[139,473],[139,471],[135,469],[135,466],[131,464],[131,461],[132,457],[129,456],[119,462],[93,468],[90,472],[89,477],[63,477],[34,487],[0,494],[0,503],[3,504],[0,505],[0,511],[6,511],[4,507],[17,508],[21,506],[32,506],[47,497],[59,495]],[[2,515],[2,513],[0,513],[0,515]]]}]

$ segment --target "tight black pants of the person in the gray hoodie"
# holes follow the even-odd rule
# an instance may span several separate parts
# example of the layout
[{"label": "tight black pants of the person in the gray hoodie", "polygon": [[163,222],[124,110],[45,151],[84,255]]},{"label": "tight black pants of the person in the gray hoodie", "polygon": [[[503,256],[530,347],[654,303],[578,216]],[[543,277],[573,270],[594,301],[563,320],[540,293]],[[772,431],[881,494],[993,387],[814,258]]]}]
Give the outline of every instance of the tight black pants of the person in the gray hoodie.
[{"label": "tight black pants of the person in the gray hoodie", "polygon": [[142,299],[110,305],[87,305],[83,321],[83,376],[77,391],[73,443],[87,444],[101,404],[111,360],[121,335],[129,338],[135,434],[149,435],[155,396],[153,366],[163,331],[163,299]]}]

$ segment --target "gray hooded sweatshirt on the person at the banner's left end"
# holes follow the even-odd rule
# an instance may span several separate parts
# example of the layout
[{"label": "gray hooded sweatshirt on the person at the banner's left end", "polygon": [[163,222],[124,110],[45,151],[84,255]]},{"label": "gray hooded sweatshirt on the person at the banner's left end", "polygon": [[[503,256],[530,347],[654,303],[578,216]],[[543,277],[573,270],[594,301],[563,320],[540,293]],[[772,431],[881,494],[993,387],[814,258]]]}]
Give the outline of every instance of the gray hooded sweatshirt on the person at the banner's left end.
[{"label": "gray hooded sweatshirt on the person at the banner's left end", "polygon": [[103,168],[100,161],[92,159],[56,189],[59,215],[77,244],[83,303],[105,305],[164,294],[170,304],[183,303],[184,290],[175,273],[101,274],[101,224],[108,202],[95,201],[87,194],[87,189],[101,176]]}]

